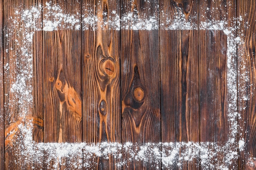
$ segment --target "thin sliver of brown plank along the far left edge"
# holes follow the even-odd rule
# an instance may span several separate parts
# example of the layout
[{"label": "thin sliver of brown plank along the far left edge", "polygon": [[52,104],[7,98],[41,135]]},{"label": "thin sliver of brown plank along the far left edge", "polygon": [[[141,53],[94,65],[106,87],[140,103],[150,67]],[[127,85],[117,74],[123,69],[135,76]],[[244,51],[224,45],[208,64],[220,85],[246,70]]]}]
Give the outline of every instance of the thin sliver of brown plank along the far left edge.
[{"label": "thin sliver of brown plank along the far left edge", "polygon": [[4,169],[4,56],[3,56],[3,0],[0,1],[0,169]]}]

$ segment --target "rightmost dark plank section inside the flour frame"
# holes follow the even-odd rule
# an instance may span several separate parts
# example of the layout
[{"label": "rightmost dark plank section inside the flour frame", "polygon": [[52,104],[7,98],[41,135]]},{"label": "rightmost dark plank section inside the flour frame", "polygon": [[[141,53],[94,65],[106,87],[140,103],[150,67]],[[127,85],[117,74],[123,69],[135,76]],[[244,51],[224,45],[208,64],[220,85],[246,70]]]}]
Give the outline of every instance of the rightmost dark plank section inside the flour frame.
[{"label": "rightmost dark plank section inside the flour frame", "polygon": [[[222,13],[221,9],[209,12],[206,10],[207,7],[209,9],[219,7],[218,4],[219,1],[199,2],[198,5],[202,6],[202,10],[199,11],[199,22],[205,22],[207,18],[216,20],[227,18],[222,16],[225,12]],[[206,19],[202,17],[205,15],[207,15]],[[224,144],[228,134],[225,128],[227,127],[227,107],[225,106],[227,103],[225,95],[227,93],[225,79],[227,35],[222,30],[200,30],[199,39],[200,141],[216,141]],[[220,49],[224,49],[222,53],[219,52]],[[224,133],[220,133],[222,131]]]}]

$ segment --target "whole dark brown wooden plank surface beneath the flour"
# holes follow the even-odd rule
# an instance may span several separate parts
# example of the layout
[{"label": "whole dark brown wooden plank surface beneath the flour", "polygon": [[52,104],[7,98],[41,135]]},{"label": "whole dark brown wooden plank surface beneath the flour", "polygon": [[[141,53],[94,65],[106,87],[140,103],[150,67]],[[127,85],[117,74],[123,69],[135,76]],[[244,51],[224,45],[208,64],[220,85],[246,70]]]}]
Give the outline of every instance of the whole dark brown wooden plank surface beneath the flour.
[{"label": "whole dark brown wooden plank surface beneath the flour", "polygon": [[[46,14],[57,9],[74,15],[79,22],[73,26],[63,20],[54,31],[35,31],[32,44],[26,44],[22,34],[25,21],[15,18],[16,11],[38,4],[45,6],[46,2],[49,1],[0,0],[0,170],[189,170],[218,169],[222,165],[229,169],[256,169],[253,0],[52,0],[49,5],[58,6],[43,7],[43,20],[53,20],[56,13]],[[128,13],[132,21],[124,19]],[[92,15],[98,19],[94,18],[93,24],[83,20]],[[121,20],[111,22],[117,15]],[[150,21],[152,16],[156,17],[158,28],[129,28],[129,24]],[[18,24],[14,26],[13,20]],[[37,22],[44,27],[43,20]],[[223,28],[220,21],[226,22]],[[213,23],[205,26],[209,22]],[[216,23],[218,28],[210,28]],[[80,28],[76,27],[78,24]],[[174,27],[169,27],[171,24]],[[236,34],[240,38],[236,39],[237,54],[236,42],[233,44],[234,60],[228,53],[231,34],[233,42]],[[24,95],[13,88],[25,69],[20,65],[27,64],[20,46],[33,54],[33,68],[28,68],[33,69],[33,78],[26,80],[26,85],[33,88],[32,102],[24,100]],[[231,83],[238,96],[238,105],[234,102],[232,108],[238,108],[241,118],[234,121],[228,116],[234,112],[229,110],[230,96],[234,95],[230,95],[228,86],[229,69],[237,69],[238,76],[236,80],[234,73]],[[20,97],[22,102],[18,102]],[[20,117],[23,113],[27,113],[25,119]],[[198,145],[197,150],[199,144],[209,149],[211,155],[206,160],[200,153],[192,161],[184,161],[182,153],[187,148],[181,147],[173,164],[166,166],[161,163],[161,156],[145,161],[149,157],[145,155],[143,160],[136,160],[125,149],[117,153],[122,157],[109,154],[108,159],[91,157],[88,152],[53,159],[45,150],[38,162],[27,161],[29,155],[21,154],[26,148],[25,136],[18,126],[30,126],[31,119],[33,146],[103,141],[124,146],[130,141],[136,152],[147,142],[192,142]],[[239,123],[238,134],[232,143],[227,143],[234,130],[232,122]],[[241,140],[245,141],[244,150],[238,148]],[[172,149],[157,147],[159,151]],[[225,162],[227,150],[238,154],[230,164]]]}]

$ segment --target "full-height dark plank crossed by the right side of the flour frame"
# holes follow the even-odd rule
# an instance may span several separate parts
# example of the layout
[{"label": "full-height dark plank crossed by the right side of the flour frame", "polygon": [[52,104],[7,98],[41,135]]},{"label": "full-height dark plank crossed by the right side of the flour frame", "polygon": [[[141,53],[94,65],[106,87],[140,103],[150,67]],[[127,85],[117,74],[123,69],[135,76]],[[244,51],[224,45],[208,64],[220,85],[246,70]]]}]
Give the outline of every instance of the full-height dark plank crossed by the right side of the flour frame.
[{"label": "full-height dark plank crossed by the right side of the flour frame", "polygon": [[[235,26],[233,18],[236,17],[235,1],[198,1],[198,6],[199,28],[202,22],[225,21],[227,29],[232,31],[230,28]],[[236,35],[236,31],[232,33]],[[199,31],[200,141],[216,142],[218,146],[226,144],[232,130],[228,121],[227,48],[227,35],[222,30],[207,27]],[[236,69],[236,61],[230,65],[230,68],[234,67]],[[236,144],[228,149],[235,150],[235,147]],[[225,152],[214,148],[213,152],[216,155],[209,160],[209,168],[227,166]],[[235,162],[230,167],[233,166],[236,167]]]}]

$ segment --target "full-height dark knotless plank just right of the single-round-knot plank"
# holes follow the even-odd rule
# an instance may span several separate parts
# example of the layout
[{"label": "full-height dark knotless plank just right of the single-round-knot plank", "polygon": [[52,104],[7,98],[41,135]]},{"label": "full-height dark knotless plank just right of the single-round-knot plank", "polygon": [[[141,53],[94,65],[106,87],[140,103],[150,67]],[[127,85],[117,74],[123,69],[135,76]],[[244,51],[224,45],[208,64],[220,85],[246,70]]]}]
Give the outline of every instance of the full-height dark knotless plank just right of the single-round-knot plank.
[{"label": "full-height dark knotless plank just right of the single-round-knot plank", "polygon": [[[197,3],[160,0],[162,142],[199,142]],[[182,159],[187,149],[181,147],[180,154],[163,162],[162,168],[199,169],[199,156],[191,162]]]}]

